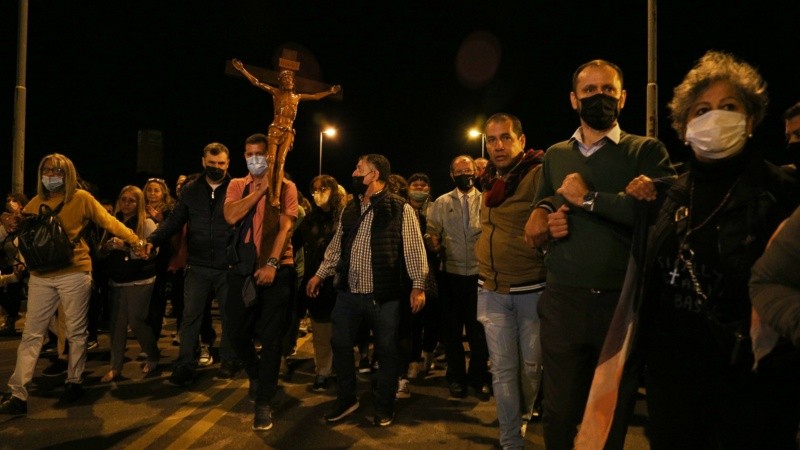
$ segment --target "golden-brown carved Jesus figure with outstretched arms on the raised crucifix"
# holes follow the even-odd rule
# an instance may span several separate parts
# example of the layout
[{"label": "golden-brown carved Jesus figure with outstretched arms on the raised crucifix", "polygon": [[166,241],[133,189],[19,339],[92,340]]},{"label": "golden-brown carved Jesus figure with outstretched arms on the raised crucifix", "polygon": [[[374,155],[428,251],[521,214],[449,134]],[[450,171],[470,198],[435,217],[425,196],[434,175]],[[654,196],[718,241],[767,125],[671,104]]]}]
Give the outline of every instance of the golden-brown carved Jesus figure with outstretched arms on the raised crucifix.
[{"label": "golden-brown carved Jesus figure with outstretched arms on the raised crucifix", "polygon": [[316,94],[298,94],[294,91],[294,72],[282,70],[278,75],[279,86],[271,86],[259,81],[238,59],[231,61],[233,67],[242,73],[250,83],[272,94],[275,118],[267,131],[267,180],[270,183],[270,204],[278,207],[281,199],[281,182],[283,181],[283,165],[286,154],[294,143],[294,119],[297,117],[297,106],[302,100],[320,100],[342,90],[338,84],[326,91]]}]

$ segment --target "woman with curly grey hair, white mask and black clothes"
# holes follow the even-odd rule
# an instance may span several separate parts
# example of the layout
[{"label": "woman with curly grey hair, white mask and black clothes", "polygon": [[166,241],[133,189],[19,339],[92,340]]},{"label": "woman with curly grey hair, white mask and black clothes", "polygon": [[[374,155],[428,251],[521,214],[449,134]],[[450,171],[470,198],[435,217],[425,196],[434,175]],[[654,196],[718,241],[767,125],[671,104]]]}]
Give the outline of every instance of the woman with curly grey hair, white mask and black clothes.
[{"label": "woman with curly grey hair, white mask and black clothes", "polygon": [[643,352],[633,354],[646,365],[654,450],[796,448],[798,351],[776,348],[753,370],[749,337],[750,269],[800,201],[796,182],[750,139],[766,105],[755,68],[707,52],[669,104],[672,127],[692,149],[688,171],[640,176],[626,189],[643,200],[638,269],[626,283],[640,287],[632,304]]}]

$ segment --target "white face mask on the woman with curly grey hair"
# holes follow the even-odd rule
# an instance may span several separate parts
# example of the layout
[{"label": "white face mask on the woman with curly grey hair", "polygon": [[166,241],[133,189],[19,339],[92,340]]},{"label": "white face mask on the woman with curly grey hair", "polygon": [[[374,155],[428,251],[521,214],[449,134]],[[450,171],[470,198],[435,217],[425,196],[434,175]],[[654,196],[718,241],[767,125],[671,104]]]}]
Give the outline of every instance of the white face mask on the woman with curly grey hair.
[{"label": "white face mask on the woman with curly grey hair", "polygon": [[723,159],[733,156],[742,151],[747,142],[747,116],[723,109],[711,110],[689,121],[686,142],[698,157]]}]

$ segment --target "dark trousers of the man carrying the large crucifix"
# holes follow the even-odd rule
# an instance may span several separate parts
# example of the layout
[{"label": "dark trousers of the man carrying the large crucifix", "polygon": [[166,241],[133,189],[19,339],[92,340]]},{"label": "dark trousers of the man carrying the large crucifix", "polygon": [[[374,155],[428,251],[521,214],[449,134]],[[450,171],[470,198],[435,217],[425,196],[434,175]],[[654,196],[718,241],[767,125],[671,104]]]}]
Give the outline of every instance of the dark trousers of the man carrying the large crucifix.
[{"label": "dark trousers of the man carrying the large crucifix", "polygon": [[[244,363],[247,376],[258,380],[257,405],[268,405],[278,391],[281,342],[286,333],[286,314],[294,293],[295,277],[294,267],[282,266],[272,285],[257,287],[255,304],[246,308],[242,300],[245,278],[228,272],[226,333],[236,357]],[[254,338],[261,342],[260,355],[256,354]]]}]

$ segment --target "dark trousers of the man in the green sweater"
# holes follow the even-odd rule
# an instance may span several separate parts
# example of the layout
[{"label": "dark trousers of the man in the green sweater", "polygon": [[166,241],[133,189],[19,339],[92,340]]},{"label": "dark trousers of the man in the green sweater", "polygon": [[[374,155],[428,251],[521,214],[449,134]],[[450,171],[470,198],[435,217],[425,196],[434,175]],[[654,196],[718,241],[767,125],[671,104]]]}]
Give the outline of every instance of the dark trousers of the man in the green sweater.
[{"label": "dark trousers of the man in the green sweater", "polygon": [[[548,284],[539,300],[544,368],[542,421],[548,450],[573,448],[619,294]],[[627,393],[627,386],[625,389]],[[625,442],[627,416],[632,413],[635,400],[625,398],[617,407],[606,448],[621,449]]]}]

